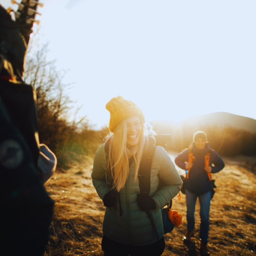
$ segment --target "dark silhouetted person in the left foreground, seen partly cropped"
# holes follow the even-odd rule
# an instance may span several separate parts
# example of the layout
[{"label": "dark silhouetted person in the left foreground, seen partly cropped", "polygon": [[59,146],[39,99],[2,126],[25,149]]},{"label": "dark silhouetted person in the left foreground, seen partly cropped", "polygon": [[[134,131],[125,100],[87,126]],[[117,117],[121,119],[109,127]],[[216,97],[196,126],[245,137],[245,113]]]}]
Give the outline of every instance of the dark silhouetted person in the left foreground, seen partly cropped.
[{"label": "dark silhouetted person in the left foreground, seen partly cropped", "polygon": [[32,23],[26,23],[29,17],[22,11],[14,22],[0,5],[0,255],[3,256],[44,254],[54,204],[43,183],[54,172],[56,158],[47,146],[39,144],[35,92],[22,80],[32,32]]}]

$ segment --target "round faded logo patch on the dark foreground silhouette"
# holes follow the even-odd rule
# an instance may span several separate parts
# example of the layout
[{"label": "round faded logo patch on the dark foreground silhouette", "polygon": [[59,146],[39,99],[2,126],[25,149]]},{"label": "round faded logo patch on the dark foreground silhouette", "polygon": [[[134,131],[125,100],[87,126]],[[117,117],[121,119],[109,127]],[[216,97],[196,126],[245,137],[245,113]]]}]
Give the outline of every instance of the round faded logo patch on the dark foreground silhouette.
[{"label": "round faded logo patch on the dark foreground silhouette", "polygon": [[6,140],[0,145],[0,164],[6,168],[18,167],[24,159],[22,146],[15,140]]}]

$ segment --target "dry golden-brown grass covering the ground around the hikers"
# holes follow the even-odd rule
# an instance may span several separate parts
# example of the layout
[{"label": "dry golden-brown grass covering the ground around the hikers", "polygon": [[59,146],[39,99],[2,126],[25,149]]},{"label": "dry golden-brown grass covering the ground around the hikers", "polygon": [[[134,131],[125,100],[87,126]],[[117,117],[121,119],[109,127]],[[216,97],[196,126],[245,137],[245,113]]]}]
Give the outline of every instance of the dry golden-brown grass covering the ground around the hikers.
[{"label": "dry golden-brown grass covering the ground around the hikers", "polygon": [[[174,158],[175,154],[170,153]],[[45,256],[103,255],[102,222],[105,207],[92,185],[92,159],[74,165],[69,172],[57,172],[46,184],[55,200],[50,242]],[[226,167],[216,174],[216,194],[211,201],[209,252],[211,255],[255,255],[256,176],[236,159],[225,159]],[[181,170],[179,170],[181,171]],[[183,214],[183,224],[164,236],[163,256],[201,255],[199,202],[196,232],[190,243],[186,231],[185,195],[173,200],[173,209]]]}]

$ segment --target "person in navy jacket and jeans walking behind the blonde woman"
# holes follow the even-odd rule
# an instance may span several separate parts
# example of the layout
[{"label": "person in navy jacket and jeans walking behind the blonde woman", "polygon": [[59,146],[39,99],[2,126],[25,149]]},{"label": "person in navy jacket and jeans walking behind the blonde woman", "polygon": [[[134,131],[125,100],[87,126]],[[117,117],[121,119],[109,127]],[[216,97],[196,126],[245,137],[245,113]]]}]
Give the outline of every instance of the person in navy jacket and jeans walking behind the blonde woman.
[{"label": "person in navy jacket and jeans walking behind the blonde woman", "polygon": [[[207,158],[207,154],[209,158]],[[192,161],[189,160],[192,159]],[[205,158],[209,164],[205,166]],[[207,142],[207,135],[198,131],[194,134],[193,142],[188,149],[180,153],[175,163],[186,170],[186,179],[184,180],[186,205],[187,205],[187,231],[184,242],[189,242],[195,231],[195,207],[197,198],[200,202],[200,240],[201,252],[203,255],[209,255],[207,251],[208,231],[209,231],[209,211],[211,200],[211,182],[210,174],[220,172],[225,166],[218,153],[210,149]],[[212,166],[214,164],[214,166]]]}]

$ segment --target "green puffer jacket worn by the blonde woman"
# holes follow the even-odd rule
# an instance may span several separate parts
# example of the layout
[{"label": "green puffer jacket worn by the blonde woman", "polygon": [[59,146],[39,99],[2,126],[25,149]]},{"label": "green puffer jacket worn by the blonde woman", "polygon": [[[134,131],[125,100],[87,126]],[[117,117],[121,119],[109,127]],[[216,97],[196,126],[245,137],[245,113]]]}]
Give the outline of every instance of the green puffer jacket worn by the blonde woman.
[{"label": "green puffer jacket worn by the blonde woman", "polygon": [[[139,180],[134,182],[134,176],[135,162],[131,164],[129,178],[119,192],[123,214],[120,217],[118,200],[113,207],[106,208],[103,233],[118,243],[143,246],[157,242],[157,237],[150,219],[144,211],[139,209],[137,204],[136,199],[137,194],[140,194],[140,188]],[[106,185],[104,144],[96,151],[92,179],[99,197],[103,200],[105,194],[109,192]],[[159,179],[164,183],[164,186],[157,191]],[[179,193],[181,186],[182,180],[172,160],[163,147],[157,146],[151,166],[150,196],[156,202],[156,209],[151,212],[159,238],[162,238],[164,234],[161,208]]]}]

